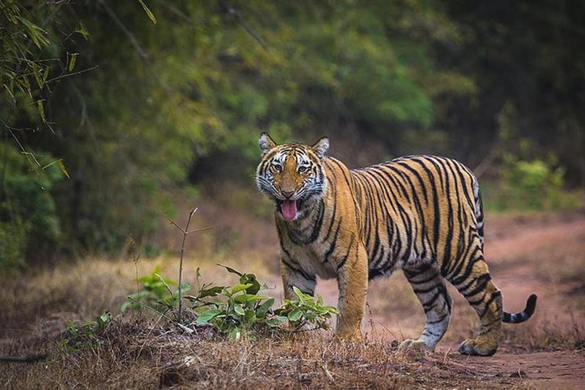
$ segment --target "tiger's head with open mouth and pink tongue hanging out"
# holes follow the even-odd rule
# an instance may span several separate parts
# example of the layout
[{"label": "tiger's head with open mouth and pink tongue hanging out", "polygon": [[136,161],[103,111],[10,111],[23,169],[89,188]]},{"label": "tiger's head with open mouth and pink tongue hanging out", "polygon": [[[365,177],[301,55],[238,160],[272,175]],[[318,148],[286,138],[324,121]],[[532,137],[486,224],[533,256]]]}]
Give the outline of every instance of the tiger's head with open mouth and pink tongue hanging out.
[{"label": "tiger's head with open mouth and pink tongue hanging out", "polygon": [[258,189],[274,200],[277,215],[300,219],[326,189],[323,161],[329,139],[321,137],[312,146],[300,143],[277,145],[268,133],[260,134],[262,161],[256,171]]}]

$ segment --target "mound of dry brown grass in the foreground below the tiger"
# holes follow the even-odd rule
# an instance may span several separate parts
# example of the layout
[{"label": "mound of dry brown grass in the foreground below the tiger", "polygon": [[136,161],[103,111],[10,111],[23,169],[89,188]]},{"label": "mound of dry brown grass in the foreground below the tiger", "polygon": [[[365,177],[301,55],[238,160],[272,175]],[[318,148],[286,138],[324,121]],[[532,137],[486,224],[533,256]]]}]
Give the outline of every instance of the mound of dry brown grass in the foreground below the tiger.
[{"label": "mound of dry brown grass in the foreground below the tiger", "polygon": [[[509,378],[466,370],[439,354],[397,354],[395,344],[342,344],[331,334],[246,340],[187,336],[146,316],[110,323],[99,350],[63,353],[40,343],[50,358],[0,365],[5,388],[494,388]],[[529,388],[522,381],[518,388]]]}]

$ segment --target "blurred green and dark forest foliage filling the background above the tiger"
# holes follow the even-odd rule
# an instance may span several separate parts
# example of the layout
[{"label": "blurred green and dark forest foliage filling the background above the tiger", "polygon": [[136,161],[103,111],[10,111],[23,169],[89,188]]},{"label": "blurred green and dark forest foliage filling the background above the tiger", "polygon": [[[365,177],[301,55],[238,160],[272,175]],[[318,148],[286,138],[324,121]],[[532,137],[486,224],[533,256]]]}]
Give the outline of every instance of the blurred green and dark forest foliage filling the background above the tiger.
[{"label": "blurred green and dark forest foliage filling the background above the tiger", "polygon": [[[471,167],[498,144],[494,165],[522,177],[552,153],[544,182],[565,167],[567,184],[583,185],[585,54],[573,34],[585,10],[562,4],[0,0],[3,161],[36,151],[70,175],[14,173],[54,185],[1,215],[0,236],[23,237],[3,252],[22,261],[32,228],[19,221],[37,209],[68,253],[113,250],[129,234],[148,243],[177,188],[250,185],[261,131],[343,130],[390,156]],[[504,161],[525,139],[530,167]],[[2,204],[16,191],[6,178]]]}]

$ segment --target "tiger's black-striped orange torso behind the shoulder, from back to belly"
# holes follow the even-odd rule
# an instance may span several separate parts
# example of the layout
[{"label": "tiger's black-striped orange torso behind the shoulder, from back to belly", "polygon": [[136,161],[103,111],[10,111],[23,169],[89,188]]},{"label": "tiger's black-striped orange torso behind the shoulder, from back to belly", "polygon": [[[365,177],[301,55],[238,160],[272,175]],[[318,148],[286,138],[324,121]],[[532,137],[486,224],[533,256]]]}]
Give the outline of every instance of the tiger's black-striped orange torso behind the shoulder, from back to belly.
[{"label": "tiger's black-striped orange torso behind the shoulder, from back to belly", "polygon": [[445,277],[473,246],[483,250],[479,186],[458,161],[407,156],[351,174],[370,279],[429,262]]}]

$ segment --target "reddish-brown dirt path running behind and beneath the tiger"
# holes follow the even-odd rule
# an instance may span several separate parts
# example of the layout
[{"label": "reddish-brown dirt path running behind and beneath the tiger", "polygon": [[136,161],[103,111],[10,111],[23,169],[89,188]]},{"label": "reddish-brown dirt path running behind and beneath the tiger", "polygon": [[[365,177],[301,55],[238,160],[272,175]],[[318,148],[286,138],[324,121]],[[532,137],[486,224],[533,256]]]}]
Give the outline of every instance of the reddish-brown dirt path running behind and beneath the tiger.
[{"label": "reddish-brown dirt path running behind and beneath the tiger", "polygon": [[[554,256],[549,258],[547,254],[554,255],[555,249],[570,245],[579,245],[585,250],[585,218],[538,224],[522,222],[520,225],[510,226],[509,230],[505,226],[499,227],[498,231],[491,236],[488,235],[486,240],[486,257],[494,280],[503,291],[504,309],[510,312],[522,310],[526,298],[534,292],[539,296],[535,317],[570,326],[571,321],[574,321],[572,314],[574,305],[567,306],[565,293],[572,285],[560,284],[547,276],[546,267],[552,267],[554,270],[555,262],[559,260]],[[507,234],[506,230],[510,234]],[[585,257],[574,260],[577,265],[585,266]],[[404,279],[402,275],[393,275],[388,283],[398,285],[399,290],[409,289],[408,284],[401,279]],[[372,286],[370,302],[376,299],[371,298],[371,295],[380,295],[388,291],[385,283]],[[338,291],[335,281],[319,281],[316,292],[324,296],[325,302],[336,304]],[[456,303],[459,302],[460,307],[466,305],[455,290],[452,290],[452,296]],[[464,309],[454,310],[451,328],[454,327],[454,322],[462,321],[457,319],[462,310]],[[582,318],[580,317],[579,321]],[[397,319],[400,321],[397,322]],[[388,329],[388,332],[383,332],[386,336],[377,333],[374,337],[394,337],[396,334],[398,337],[401,334],[403,337],[416,337],[424,325],[424,316],[422,310],[418,308],[398,309],[392,315],[374,313],[365,322],[369,321]],[[521,326],[529,326],[526,324]],[[364,323],[364,330],[367,331],[367,328],[369,325]],[[493,357],[466,357],[456,353],[458,344],[456,340],[460,341],[464,337],[453,334],[459,332],[459,328],[456,326],[455,328],[449,330],[436,353],[449,358],[456,370],[475,372],[481,378],[510,378],[511,384],[525,380],[539,389],[585,389],[583,348],[576,351],[522,353],[504,344]]]}]

